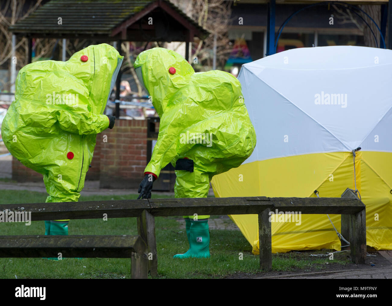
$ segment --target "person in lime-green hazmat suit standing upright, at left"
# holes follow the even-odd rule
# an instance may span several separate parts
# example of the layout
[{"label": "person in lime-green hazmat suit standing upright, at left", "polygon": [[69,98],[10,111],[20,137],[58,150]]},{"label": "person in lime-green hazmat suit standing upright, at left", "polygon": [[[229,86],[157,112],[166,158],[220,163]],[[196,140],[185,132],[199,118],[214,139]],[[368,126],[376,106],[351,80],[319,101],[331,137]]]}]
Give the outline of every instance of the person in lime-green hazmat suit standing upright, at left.
[{"label": "person in lime-green hazmat suit standing upright, at left", "polygon": [[[66,62],[45,60],[20,69],[2,138],[15,158],[42,173],[46,202],[78,201],[96,134],[114,125],[114,117],[102,113],[122,60],[112,46],[100,44]],[[45,235],[67,235],[68,221],[45,221]]]}]

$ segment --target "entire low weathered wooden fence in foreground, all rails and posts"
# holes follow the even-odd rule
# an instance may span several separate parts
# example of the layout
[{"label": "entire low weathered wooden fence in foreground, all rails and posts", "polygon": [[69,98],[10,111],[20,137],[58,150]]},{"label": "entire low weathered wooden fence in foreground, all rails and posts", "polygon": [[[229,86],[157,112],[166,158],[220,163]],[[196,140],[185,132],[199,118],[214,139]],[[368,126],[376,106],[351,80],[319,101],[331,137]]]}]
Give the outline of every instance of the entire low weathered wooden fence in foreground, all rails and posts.
[{"label": "entire low weathered wooden fence in foreground, all rails and posts", "polygon": [[132,278],[147,278],[148,270],[152,277],[158,276],[154,221],[158,216],[258,214],[260,268],[270,271],[271,210],[341,214],[342,232],[350,241],[352,260],[363,263],[366,258],[365,205],[348,188],[342,198],[142,199],[0,206],[0,211],[5,209],[31,212],[32,221],[101,219],[103,214],[107,214],[107,218],[137,217],[139,236],[124,235],[124,239],[122,236],[0,236],[0,257],[57,257],[59,250],[63,251],[63,257],[131,257]]}]

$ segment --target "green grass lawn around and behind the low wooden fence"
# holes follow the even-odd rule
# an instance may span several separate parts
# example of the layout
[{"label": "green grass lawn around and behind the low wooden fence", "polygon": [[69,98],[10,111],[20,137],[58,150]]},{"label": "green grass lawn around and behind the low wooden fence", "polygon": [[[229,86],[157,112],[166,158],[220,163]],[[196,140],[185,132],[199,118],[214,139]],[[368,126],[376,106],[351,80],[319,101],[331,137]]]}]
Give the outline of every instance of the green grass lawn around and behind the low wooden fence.
[{"label": "green grass lawn around and behind the low wooden fence", "polygon": [[[34,191],[0,190],[0,204],[45,202],[47,195]],[[81,201],[136,199],[138,195],[85,196]],[[154,197],[154,196],[153,196]],[[155,198],[171,197],[158,195]],[[214,216],[216,217],[216,216]],[[259,270],[259,257],[251,253],[251,246],[240,231],[210,230],[211,242],[209,259],[173,259],[176,253],[188,250],[187,237],[181,217],[157,217],[156,238],[158,250],[158,273],[160,278],[221,278],[236,273],[256,274]],[[1,235],[42,235],[44,222],[0,224]],[[69,222],[70,235],[136,235],[136,218],[86,219]],[[317,251],[318,253],[324,253]],[[240,253],[243,259],[240,260]],[[339,255],[340,254],[340,255]],[[274,254],[272,268],[274,271],[294,271],[301,269],[323,270],[328,267],[328,259],[309,257],[306,253]],[[346,264],[348,259],[337,253],[334,263]],[[0,279],[123,279],[131,277],[131,260],[116,258],[65,258],[60,261],[40,258],[0,258]]]}]

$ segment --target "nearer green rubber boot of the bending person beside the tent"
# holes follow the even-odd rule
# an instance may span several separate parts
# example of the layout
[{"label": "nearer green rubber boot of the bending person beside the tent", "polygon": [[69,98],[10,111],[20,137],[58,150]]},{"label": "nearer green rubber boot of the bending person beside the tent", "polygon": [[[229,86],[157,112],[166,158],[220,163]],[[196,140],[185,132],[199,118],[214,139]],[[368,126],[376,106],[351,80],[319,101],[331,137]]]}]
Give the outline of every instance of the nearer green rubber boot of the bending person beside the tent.
[{"label": "nearer green rubber boot of the bending person beside the tent", "polygon": [[176,254],[174,258],[209,258],[210,233],[208,219],[192,221],[189,228],[189,250],[183,254]]}]

